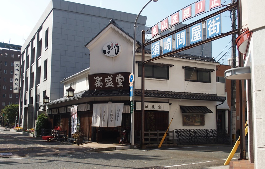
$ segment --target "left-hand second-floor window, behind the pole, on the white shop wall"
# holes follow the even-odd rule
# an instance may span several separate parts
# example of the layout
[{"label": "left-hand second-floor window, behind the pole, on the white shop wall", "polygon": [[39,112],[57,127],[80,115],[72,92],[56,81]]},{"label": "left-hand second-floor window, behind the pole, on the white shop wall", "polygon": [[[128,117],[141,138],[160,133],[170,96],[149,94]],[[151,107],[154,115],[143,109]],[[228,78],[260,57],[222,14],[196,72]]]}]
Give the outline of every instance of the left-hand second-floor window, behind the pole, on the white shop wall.
[{"label": "left-hand second-floor window, behind the pole, on the white shop wall", "polygon": [[[138,77],[142,77],[142,64],[138,63]],[[155,79],[169,79],[169,66],[145,65],[145,77]]]}]

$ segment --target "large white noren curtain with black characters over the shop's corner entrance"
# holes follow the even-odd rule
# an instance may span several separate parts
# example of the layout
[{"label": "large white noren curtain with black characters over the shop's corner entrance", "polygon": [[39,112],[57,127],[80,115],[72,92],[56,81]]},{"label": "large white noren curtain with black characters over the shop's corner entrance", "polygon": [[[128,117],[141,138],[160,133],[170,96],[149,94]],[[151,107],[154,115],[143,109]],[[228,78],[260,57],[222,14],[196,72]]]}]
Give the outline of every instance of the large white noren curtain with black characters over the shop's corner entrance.
[{"label": "large white noren curtain with black characters over the shop's corner entrance", "polygon": [[92,127],[121,126],[123,103],[93,104]]}]

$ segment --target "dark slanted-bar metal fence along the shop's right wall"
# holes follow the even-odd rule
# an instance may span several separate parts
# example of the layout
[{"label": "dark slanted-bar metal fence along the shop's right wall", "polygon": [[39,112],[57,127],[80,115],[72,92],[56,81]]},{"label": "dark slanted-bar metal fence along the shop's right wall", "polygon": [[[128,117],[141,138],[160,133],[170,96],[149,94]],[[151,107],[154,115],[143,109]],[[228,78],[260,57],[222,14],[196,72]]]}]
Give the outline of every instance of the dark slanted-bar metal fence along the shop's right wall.
[{"label": "dark slanted-bar metal fence along the shop's right wall", "polygon": [[230,143],[225,129],[175,129],[175,133],[177,145]]}]

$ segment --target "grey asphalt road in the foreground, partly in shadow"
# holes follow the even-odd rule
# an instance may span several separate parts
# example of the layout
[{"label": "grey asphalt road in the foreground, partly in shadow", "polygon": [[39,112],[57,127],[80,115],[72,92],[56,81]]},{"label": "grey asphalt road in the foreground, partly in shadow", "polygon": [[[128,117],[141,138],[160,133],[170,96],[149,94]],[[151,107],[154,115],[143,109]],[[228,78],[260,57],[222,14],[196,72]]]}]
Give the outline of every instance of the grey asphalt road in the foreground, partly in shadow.
[{"label": "grey asphalt road in the foreground, partly in shadow", "polygon": [[[228,145],[209,145],[86,152],[88,147],[57,142],[43,146],[39,141],[0,131],[0,153],[17,154],[12,157],[0,156],[0,168],[202,169],[222,166],[232,149]],[[239,158],[239,151],[233,158]]]}]

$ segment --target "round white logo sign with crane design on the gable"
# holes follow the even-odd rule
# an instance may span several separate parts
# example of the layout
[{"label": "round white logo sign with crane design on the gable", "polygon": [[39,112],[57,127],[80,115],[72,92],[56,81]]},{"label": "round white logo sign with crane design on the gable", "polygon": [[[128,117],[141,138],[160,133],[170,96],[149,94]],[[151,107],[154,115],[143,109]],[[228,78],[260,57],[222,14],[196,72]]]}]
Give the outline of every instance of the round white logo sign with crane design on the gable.
[{"label": "round white logo sign with crane design on the gable", "polygon": [[116,57],[120,54],[121,47],[118,42],[109,42],[103,46],[103,53],[109,57]]}]

